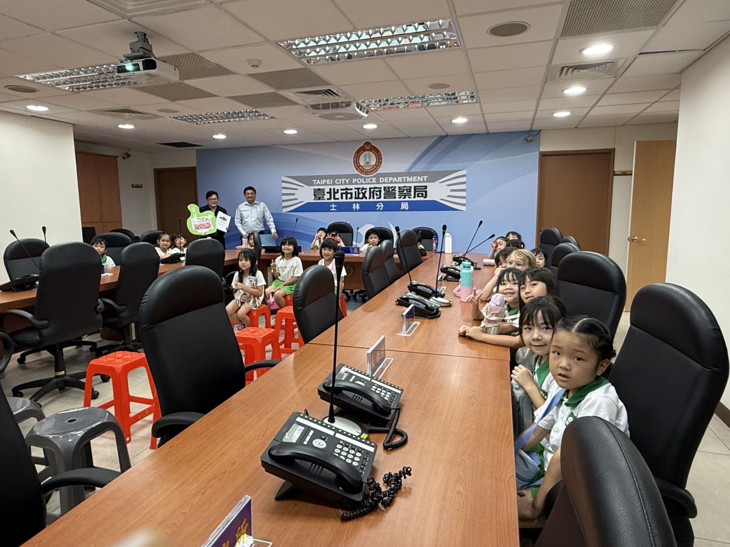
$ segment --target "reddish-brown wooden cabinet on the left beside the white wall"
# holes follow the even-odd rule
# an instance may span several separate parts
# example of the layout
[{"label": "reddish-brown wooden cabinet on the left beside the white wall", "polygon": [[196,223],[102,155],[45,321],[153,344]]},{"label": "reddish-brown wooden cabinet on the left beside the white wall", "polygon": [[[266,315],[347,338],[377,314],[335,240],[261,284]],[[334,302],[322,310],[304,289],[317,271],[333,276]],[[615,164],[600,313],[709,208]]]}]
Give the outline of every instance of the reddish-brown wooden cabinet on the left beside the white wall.
[{"label": "reddish-brown wooden cabinet on the left beside the white wall", "polygon": [[76,152],[81,225],[104,233],[122,228],[117,157]]}]

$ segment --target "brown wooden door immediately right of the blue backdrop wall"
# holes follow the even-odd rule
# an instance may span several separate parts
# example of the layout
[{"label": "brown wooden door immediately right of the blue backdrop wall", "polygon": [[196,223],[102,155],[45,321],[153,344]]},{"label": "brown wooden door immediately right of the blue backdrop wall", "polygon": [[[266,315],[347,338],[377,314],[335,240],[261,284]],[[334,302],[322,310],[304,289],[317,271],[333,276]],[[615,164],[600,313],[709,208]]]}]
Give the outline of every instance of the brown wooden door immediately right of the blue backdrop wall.
[{"label": "brown wooden door immediately right of the blue backdrop wall", "polygon": [[584,251],[608,254],[613,150],[542,152],[537,231],[555,227]]}]

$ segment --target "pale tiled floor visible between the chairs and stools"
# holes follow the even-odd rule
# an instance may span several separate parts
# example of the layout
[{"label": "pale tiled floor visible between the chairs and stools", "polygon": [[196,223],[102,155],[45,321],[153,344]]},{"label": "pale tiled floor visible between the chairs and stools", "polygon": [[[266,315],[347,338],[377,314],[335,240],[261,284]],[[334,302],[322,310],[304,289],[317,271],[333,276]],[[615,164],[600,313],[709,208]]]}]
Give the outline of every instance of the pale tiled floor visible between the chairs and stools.
[{"label": "pale tiled floor visible between the chairs and stools", "polygon": [[[348,302],[347,308],[353,311],[358,303]],[[629,314],[623,314],[621,324],[616,334],[615,345],[619,349],[626,337],[629,327]],[[85,370],[91,354],[87,349],[67,349],[66,369],[69,372]],[[31,379],[43,378],[53,373],[53,360],[50,356],[37,354],[28,357],[26,365],[18,365],[13,360],[0,378],[5,395],[9,396],[10,389],[15,384]],[[129,381],[130,391],[134,395],[150,396],[150,386],[147,376],[142,369],[133,371]],[[111,383],[102,383],[99,377],[94,379],[94,387],[99,390],[99,398],[94,403],[104,402],[112,397]],[[26,395],[29,395],[26,394]],[[82,406],[83,393],[77,389],[66,389],[47,395],[41,400],[46,415]],[[133,408],[134,410],[134,408]],[[23,432],[30,429],[31,421],[23,424]],[[152,416],[148,416],[132,427],[132,440],[127,445],[132,465],[141,461],[149,454],[150,428]],[[102,435],[92,441],[92,451],[96,465],[111,469],[118,469],[119,462],[112,435]],[[730,504],[727,503],[727,492],[730,492],[730,429],[717,417],[712,417],[710,427],[704,434],[699,451],[689,476],[688,490],[694,495],[697,503],[698,516],[692,521],[696,536],[697,547],[718,547],[730,545]],[[51,500],[48,507],[55,511],[58,508],[58,497]]]}]

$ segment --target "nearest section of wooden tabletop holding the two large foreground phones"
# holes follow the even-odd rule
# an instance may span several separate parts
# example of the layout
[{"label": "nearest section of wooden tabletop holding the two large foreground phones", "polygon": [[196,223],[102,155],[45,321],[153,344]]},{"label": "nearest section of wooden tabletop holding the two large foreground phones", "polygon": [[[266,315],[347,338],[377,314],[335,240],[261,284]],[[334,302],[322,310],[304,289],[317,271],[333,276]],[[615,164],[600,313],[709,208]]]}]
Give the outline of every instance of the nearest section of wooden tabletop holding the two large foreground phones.
[{"label": "nearest section of wooden tabletop holding the two large foreground phones", "polygon": [[[357,314],[354,312],[353,315]],[[274,546],[516,546],[518,520],[509,371],[503,362],[388,352],[384,379],[404,387],[406,446],[378,443],[373,476],[404,465],[413,475],[387,511],[342,523],[337,509],[277,502],[282,481],[261,454],[293,411],[327,414],[317,387],[331,347],[307,344],[27,545],[110,545],[147,529],[169,546],[201,545],[245,495],[253,534]],[[364,349],[339,361],[364,370]]]}]

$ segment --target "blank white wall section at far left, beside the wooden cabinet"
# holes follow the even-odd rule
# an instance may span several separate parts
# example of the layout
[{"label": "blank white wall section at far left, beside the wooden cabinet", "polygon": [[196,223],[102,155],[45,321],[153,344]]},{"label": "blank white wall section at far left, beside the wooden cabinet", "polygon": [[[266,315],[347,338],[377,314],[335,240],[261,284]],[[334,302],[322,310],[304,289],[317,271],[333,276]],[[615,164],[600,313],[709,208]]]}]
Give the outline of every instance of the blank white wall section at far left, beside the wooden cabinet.
[{"label": "blank white wall section at far left, beside the wooden cabinet", "polygon": [[[81,241],[74,134],[68,123],[0,112],[0,249],[20,238]],[[0,268],[0,282],[8,279]]]}]

